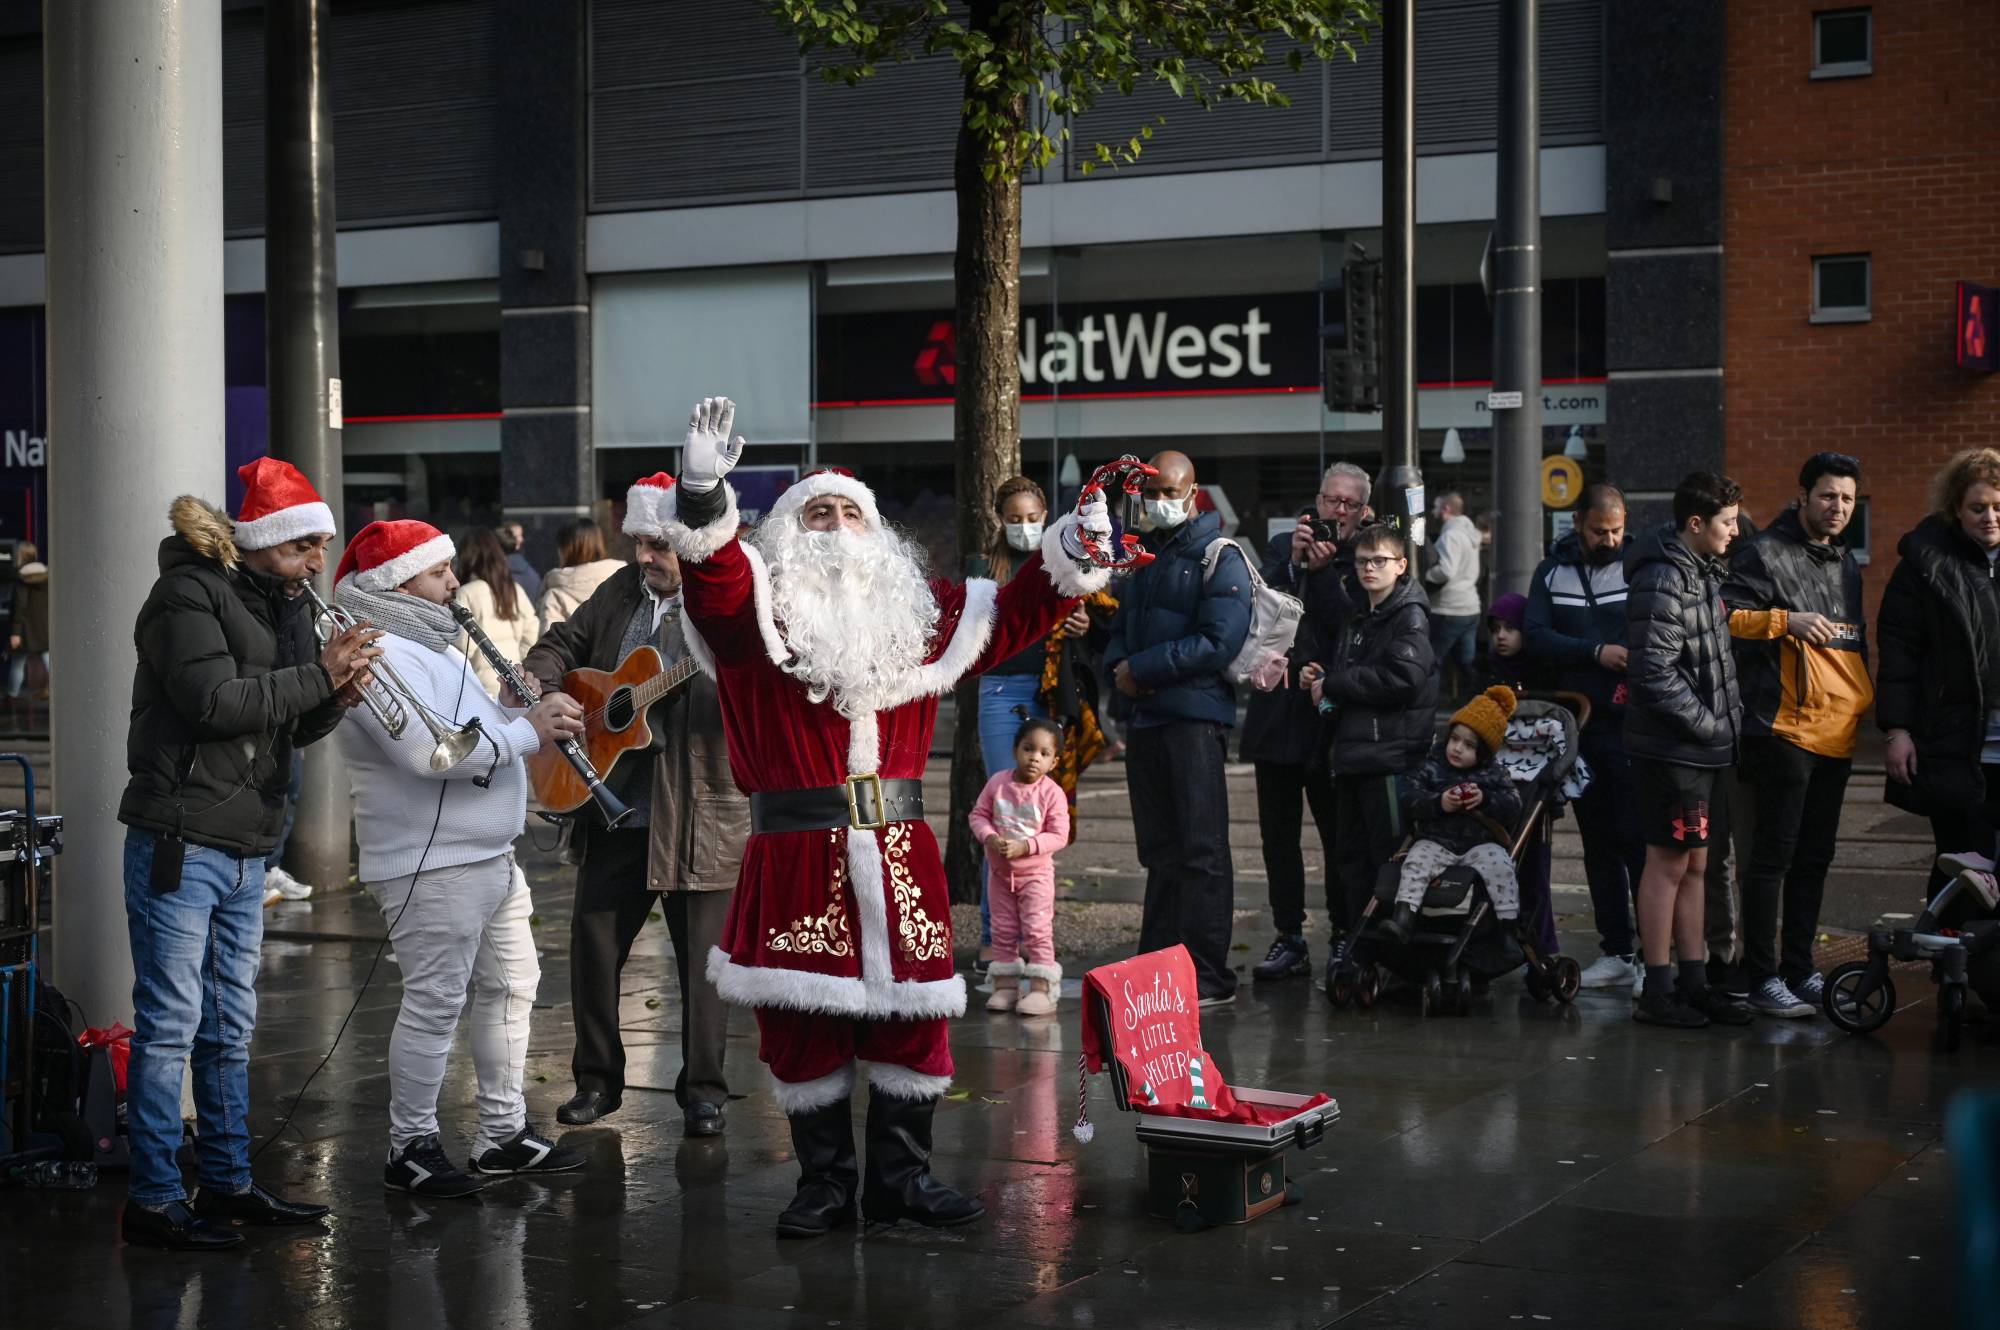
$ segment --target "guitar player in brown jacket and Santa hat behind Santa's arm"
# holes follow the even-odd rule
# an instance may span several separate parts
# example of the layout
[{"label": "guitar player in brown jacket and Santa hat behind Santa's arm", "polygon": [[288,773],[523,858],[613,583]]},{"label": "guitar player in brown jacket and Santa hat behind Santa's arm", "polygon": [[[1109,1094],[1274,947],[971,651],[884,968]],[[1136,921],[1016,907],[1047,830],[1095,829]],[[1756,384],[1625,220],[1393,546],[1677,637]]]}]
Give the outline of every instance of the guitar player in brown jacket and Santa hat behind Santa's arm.
[{"label": "guitar player in brown jacket and Santa hat behind Santa's arm", "polygon": [[[576,668],[616,670],[640,646],[672,666],[688,656],[680,618],[680,562],[660,538],[672,480],[648,476],[626,498],[624,530],[634,562],[614,572],[572,618],[550,628],[522,664],[544,688]],[[582,868],[570,916],[570,1002],[576,1094],[556,1110],[570,1126],[614,1112],[624,1096],[618,1038],[618,972],[654,900],[674,940],[680,976],[680,1102],[688,1136],[720,1136],[728,1082],[722,1052],[728,1012],[702,960],[722,940],[744,842],[750,800],[736,790],[722,742],[716,686],[696,674],[648,714],[652,746],[620,758],[604,782],[632,808],[608,830],[590,808],[578,812]],[[690,964],[694,958],[694,964]]]}]

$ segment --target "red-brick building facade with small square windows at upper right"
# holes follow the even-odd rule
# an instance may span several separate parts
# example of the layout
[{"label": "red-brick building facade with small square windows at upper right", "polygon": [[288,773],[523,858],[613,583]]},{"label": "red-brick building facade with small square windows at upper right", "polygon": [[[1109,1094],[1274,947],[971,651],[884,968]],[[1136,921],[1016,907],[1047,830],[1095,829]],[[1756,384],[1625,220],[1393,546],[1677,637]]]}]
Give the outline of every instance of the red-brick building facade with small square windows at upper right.
[{"label": "red-brick building facade with small square windows at upper right", "polygon": [[[1808,454],[1862,460],[1872,620],[1938,464],[2000,446],[2000,376],[1952,362],[1954,282],[2000,284],[2000,82],[1990,0],[1834,18],[1726,6],[1724,464],[1762,524]],[[1826,256],[1868,258],[1866,304],[1844,268],[1816,312]]]}]

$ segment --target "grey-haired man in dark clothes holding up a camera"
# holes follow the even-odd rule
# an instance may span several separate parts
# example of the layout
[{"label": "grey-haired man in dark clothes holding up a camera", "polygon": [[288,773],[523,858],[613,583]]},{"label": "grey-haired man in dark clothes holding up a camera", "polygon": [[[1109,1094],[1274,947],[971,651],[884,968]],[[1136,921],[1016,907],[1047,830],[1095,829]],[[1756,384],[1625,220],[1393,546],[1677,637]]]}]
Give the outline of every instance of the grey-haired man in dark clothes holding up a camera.
[{"label": "grey-haired man in dark clothes holding up a camera", "polygon": [[1368,508],[1368,472],[1334,462],[1320,478],[1312,506],[1298,526],[1278,532],[1264,554],[1264,580],[1298,596],[1306,614],[1292,640],[1284,688],[1252,692],[1244,712],[1242,760],[1256,772],[1256,816],[1264,840],[1264,874],[1278,936],[1252,974],[1278,980],[1312,974],[1306,946],[1306,864],[1300,854],[1302,804],[1312,810],[1326,872],[1326,908],[1334,918],[1334,774],[1326,764],[1326,736],[1318,708],[1298,686],[1298,670],[1324,660],[1352,610],[1350,542]]}]

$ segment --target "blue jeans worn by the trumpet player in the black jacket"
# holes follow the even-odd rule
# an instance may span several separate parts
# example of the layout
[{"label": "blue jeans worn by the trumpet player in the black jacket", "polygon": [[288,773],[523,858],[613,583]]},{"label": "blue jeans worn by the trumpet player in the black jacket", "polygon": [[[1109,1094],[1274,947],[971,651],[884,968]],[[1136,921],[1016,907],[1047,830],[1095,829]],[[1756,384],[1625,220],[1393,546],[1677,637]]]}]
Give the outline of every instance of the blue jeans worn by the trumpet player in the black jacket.
[{"label": "blue jeans worn by the trumpet player in the black jacket", "polygon": [[164,1206],[180,1180],[180,1076],[194,1050],[196,1174],[250,1186],[250,1030],[264,942],[264,862],[188,846],[178,892],[152,890],[154,834],[126,828],[126,926],[132,930],[132,1062],[126,1120],[130,1198]]}]

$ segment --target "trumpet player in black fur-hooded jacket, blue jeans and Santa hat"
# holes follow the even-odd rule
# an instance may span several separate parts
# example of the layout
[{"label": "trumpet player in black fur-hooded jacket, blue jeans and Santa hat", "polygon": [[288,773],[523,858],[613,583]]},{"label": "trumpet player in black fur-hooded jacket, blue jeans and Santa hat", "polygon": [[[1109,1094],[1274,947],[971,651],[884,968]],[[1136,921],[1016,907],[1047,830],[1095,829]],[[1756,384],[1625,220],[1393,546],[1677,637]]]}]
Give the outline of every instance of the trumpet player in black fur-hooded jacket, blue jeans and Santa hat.
[{"label": "trumpet player in black fur-hooded jacket, blue jeans and Santa hat", "polygon": [[[250,1032],[264,940],[264,856],[278,844],[292,750],[358,700],[378,634],[314,654],[298,594],[326,562],[334,514],[296,468],[240,468],[242,514],[194,496],[168,510],[160,580],[138,614],[124,892],[138,1024],[126,1080],[132,1180],[126,1242],[214,1250],[236,1224],[310,1224],[250,1176]],[[194,1200],[182,1184],[180,1082],[194,1054]]]}]

